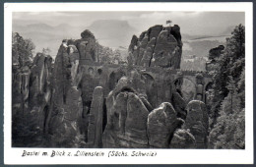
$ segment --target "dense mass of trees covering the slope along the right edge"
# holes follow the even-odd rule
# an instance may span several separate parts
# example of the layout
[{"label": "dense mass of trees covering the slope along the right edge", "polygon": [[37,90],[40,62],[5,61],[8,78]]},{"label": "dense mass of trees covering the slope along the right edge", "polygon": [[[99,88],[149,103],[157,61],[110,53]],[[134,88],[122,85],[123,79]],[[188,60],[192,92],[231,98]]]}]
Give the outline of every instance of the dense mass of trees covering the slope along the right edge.
[{"label": "dense mass of trees covering the slope along the right edge", "polygon": [[214,67],[211,103],[214,148],[245,147],[245,28],[239,25],[226,39],[221,55],[212,57]]}]

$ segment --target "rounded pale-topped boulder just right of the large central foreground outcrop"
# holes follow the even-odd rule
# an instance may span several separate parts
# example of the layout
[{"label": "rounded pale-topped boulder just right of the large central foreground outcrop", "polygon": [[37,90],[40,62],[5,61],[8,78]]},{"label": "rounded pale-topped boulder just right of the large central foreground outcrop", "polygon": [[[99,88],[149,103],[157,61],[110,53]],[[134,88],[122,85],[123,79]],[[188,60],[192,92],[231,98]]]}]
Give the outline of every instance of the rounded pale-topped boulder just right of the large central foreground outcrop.
[{"label": "rounded pale-topped boulder just right of the large central foreground outcrop", "polygon": [[161,103],[159,108],[150,113],[147,131],[151,147],[167,148],[169,146],[178,124],[176,115],[172,105],[168,102]]}]

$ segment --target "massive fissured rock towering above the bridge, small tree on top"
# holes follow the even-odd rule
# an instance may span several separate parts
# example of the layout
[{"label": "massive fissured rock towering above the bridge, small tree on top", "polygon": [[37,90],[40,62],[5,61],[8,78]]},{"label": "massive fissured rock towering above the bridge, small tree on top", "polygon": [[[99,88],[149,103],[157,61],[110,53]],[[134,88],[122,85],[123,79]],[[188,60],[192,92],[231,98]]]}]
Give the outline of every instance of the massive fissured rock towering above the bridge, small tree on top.
[{"label": "massive fissured rock towering above the bridge, small tree on top", "polygon": [[132,37],[127,59],[130,65],[179,69],[181,54],[180,28],[155,26]]}]

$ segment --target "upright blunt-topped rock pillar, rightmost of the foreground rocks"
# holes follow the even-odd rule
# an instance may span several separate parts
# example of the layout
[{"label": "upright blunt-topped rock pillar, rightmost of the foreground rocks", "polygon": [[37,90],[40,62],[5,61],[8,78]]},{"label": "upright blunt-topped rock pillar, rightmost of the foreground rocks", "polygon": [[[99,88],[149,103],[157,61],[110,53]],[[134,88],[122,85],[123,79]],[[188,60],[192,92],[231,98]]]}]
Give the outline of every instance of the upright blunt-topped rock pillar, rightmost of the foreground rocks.
[{"label": "upright blunt-topped rock pillar, rightmost of the foreground rocks", "polygon": [[205,103],[199,100],[192,100],[187,105],[187,111],[184,129],[189,130],[195,137],[197,148],[206,148],[209,118]]}]

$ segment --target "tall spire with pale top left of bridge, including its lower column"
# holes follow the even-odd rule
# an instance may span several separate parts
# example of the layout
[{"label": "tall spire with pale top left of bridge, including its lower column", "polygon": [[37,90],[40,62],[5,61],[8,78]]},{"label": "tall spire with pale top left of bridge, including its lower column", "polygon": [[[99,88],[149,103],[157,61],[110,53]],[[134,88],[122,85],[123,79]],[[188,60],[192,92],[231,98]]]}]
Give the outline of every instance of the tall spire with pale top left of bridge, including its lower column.
[{"label": "tall spire with pale top left of bridge, including its lower column", "polygon": [[60,46],[52,74],[53,93],[47,132],[51,135],[52,145],[75,146],[76,137],[80,135],[83,112],[81,91],[73,83],[72,66],[74,57],[68,52],[65,41]]}]

